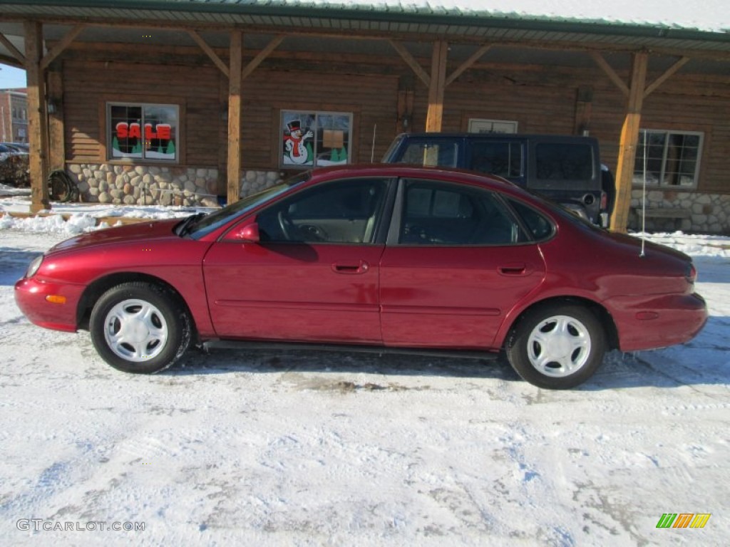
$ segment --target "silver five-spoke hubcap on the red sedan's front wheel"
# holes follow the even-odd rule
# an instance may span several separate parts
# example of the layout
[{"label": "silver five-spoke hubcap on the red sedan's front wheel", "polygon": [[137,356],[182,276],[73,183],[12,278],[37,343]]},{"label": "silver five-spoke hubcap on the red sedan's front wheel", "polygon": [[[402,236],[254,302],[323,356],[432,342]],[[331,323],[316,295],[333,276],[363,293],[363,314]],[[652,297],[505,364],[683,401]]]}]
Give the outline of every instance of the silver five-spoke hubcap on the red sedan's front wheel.
[{"label": "silver five-spoke hubcap on the red sedan's front wheel", "polygon": [[165,347],[167,323],[160,310],[145,300],[123,300],[104,321],[104,339],[118,357],[141,362],[156,357]]}]

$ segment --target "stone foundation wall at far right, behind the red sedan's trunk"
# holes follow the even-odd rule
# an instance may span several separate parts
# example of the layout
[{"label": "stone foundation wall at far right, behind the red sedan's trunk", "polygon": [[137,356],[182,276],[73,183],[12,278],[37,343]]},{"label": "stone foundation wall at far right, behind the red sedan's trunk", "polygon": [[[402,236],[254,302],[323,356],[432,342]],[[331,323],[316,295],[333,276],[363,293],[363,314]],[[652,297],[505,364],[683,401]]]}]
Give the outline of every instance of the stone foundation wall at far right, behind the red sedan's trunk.
[{"label": "stone foundation wall at far right, behind the red sedan's trunk", "polygon": [[[730,235],[730,195],[676,190],[649,190],[647,209],[681,209],[688,218],[646,218],[649,231],[676,231]],[[641,230],[642,190],[631,190],[629,228]]]}]

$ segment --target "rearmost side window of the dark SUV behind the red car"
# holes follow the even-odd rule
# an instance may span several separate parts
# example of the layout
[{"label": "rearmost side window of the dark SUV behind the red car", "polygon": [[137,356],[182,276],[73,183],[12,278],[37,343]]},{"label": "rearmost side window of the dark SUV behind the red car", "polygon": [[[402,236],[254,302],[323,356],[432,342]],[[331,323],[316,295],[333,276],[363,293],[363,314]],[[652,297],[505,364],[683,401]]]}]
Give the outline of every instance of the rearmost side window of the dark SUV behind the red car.
[{"label": "rearmost side window of the dark SUV behind the red car", "polygon": [[588,144],[539,143],[535,161],[541,180],[593,179],[593,149]]}]

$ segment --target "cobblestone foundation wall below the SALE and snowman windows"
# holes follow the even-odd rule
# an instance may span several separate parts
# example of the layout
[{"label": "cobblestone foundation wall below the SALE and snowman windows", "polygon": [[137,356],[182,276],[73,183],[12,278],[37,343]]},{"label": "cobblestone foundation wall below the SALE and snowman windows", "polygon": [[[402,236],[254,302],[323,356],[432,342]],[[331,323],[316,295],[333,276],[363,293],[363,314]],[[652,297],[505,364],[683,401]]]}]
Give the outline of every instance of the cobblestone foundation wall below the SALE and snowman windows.
[{"label": "cobblestone foundation wall below the SALE and snowman windows", "polygon": [[[218,206],[218,169],[77,163],[66,172],[79,187],[80,201],[115,205]],[[241,195],[282,179],[279,171],[244,171]]]}]

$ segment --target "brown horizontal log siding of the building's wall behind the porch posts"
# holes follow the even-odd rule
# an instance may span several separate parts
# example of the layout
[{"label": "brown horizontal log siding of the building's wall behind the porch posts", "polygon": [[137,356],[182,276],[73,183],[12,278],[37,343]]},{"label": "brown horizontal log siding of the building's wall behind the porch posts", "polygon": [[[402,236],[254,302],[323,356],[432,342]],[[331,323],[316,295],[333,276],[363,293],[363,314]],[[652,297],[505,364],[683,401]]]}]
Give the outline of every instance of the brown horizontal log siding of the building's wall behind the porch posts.
[{"label": "brown horizontal log siding of the building's wall behind the porch posts", "polygon": [[[227,80],[210,59],[179,51],[141,58],[116,44],[107,55],[112,61],[101,61],[104,47],[109,46],[73,47],[64,60],[66,162],[106,160],[106,101],[161,102],[181,106],[181,166],[224,170]],[[225,50],[219,55],[226,58]],[[318,62],[316,54],[277,51],[244,80],[244,171],[280,170],[283,109],[352,112],[353,160],[369,163],[383,156],[398,131],[399,78],[412,77],[410,68],[396,53],[321,57]],[[418,61],[429,70],[430,59]],[[619,75],[628,79],[626,72]],[[648,82],[660,75],[650,63]],[[412,129],[423,131],[428,89],[418,78],[413,81]],[[644,101],[642,128],[704,132],[699,192],[730,194],[728,84],[730,76],[698,73],[690,62]],[[626,98],[598,66],[476,63],[445,89],[442,131],[466,131],[469,118],[478,117],[515,120],[524,133],[572,133],[578,90],[586,87],[593,92],[588,128],[602,143],[604,163],[615,168]]]}]

